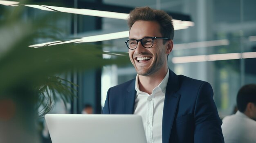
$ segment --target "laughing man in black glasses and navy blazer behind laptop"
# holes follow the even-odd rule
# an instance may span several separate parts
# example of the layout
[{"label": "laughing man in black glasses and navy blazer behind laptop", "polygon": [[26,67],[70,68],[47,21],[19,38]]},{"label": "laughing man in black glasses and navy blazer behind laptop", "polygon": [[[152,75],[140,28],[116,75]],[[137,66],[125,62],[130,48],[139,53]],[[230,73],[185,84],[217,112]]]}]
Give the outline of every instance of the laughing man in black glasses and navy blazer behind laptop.
[{"label": "laughing man in black glasses and navy blazer behind laptop", "polygon": [[129,57],[137,77],[108,90],[103,114],[139,114],[148,143],[222,143],[211,85],[168,69],[172,18],[149,7],[130,12]]}]

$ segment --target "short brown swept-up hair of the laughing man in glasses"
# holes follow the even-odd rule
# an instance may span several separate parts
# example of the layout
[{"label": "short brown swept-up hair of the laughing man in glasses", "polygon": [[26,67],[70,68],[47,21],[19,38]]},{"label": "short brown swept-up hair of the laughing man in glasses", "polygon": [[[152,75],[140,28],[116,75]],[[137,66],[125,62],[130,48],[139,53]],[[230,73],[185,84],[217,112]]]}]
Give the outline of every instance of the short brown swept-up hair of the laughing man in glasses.
[{"label": "short brown swept-up hair of the laughing man in glasses", "polygon": [[150,7],[136,7],[128,17],[129,28],[131,29],[132,25],[138,20],[158,22],[162,36],[173,40],[173,19],[165,11],[151,9]]}]

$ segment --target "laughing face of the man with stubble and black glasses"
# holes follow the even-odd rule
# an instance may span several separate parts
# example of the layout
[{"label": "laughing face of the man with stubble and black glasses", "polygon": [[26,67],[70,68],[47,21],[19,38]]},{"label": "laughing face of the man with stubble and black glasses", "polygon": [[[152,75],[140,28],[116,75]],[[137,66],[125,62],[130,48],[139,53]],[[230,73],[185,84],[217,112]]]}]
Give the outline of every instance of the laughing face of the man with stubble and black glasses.
[{"label": "laughing face of the man with stubble and black glasses", "polygon": [[[129,34],[129,39],[142,39],[144,37],[162,37],[160,26],[155,21],[136,21]],[[162,70],[167,65],[168,42],[163,44],[162,39],[154,39],[154,44],[150,48],[144,48],[141,42],[138,42],[135,50],[129,49],[129,57],[135,70],[139,75],[153,75]],[[139,59],[143,60],[139,60]]]}]

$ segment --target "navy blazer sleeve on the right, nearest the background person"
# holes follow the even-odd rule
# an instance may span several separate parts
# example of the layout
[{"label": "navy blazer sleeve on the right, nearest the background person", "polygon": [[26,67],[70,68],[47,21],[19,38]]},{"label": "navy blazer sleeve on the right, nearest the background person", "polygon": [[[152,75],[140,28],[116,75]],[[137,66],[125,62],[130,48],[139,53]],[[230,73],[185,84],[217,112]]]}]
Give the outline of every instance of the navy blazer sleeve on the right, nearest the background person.
[{"label": "navy blazer sleeve on the right, nearest the background person", "polygon": [[207,82],[204,82],[198,90],[194,119],[195,143],[224,143],[222,121],[213,101],[213,90]]}]

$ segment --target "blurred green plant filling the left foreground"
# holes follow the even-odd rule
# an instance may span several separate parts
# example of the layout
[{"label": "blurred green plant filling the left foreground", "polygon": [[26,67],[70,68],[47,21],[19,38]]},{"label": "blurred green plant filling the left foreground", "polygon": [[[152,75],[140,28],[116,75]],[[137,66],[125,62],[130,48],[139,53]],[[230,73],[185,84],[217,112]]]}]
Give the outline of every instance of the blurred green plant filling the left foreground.
[{"label": "blurred green plant filling the left foreground", "polygon": [[[48,22],[59,18],[58,12],[35,20],[24,20],[24,12],[22,6],[0,6],[0,142],[34,142],[37,108],[43,106],[39,111],[43,116],[59,98],[57,93],[64,103],[75,97],[76,90],[69,85],[78,85],[57,75],[129,62],[126,56],[103,59],[103,54],[114,54],[93,43],[31,48],[38,39],[65,41],[66,37]],[[13,134],[24,140],[12,138]]]}]

